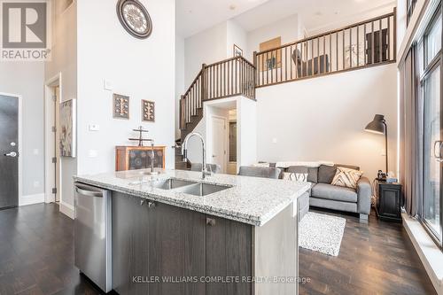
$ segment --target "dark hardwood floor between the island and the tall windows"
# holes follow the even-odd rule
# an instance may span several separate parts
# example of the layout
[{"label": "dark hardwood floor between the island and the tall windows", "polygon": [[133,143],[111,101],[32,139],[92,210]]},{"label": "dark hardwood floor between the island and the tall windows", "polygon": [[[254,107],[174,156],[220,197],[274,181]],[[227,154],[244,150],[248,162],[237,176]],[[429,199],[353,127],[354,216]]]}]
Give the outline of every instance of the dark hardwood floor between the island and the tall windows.
[{"label": "dark hardwood floor between the island and the tall windows", "polygon": [[300,294],[437,294],[426,275],[408,234],[400,223],[379,221],[374,212],[369,223],[347,213],[345,234],[338,257],[299,249]]}]

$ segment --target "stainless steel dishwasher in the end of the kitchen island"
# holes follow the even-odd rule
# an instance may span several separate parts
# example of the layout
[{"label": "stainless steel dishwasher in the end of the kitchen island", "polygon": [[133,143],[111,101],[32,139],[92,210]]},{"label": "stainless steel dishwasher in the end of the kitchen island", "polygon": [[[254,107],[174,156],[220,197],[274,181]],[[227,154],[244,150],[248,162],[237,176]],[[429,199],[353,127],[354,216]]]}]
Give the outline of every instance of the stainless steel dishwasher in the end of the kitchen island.
[{"label": "stainless steel dishwasher in the end of the kitchen island", "polygon": [[112,194],[80,182],[74,183],[75,266],[103,291],[112,283]]}]

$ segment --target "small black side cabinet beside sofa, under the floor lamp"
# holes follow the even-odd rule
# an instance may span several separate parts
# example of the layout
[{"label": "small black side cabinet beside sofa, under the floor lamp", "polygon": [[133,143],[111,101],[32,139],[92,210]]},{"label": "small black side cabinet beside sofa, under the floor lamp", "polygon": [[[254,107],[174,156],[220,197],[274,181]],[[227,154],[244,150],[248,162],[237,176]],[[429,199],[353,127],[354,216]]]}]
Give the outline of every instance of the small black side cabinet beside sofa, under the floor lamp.
[{"label": "small black side cabinet beside sofa, under the floor lamp", "polygon": [[403,196],[400,183],[377,183],[377,216],[385,221],[401,222]]}]

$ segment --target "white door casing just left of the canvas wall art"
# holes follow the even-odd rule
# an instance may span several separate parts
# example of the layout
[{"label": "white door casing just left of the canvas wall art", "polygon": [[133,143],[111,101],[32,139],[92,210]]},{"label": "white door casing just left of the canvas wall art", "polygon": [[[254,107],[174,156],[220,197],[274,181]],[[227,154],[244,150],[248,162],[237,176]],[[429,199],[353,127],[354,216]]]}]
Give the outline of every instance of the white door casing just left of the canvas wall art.
[{"label": "white door casing just left of the canvas wall art", "polygon": [[[51,162],[53,154],[50,153],[48,146],[54,144],[54,136],[51,131],[52,125],[54,124],[54,102],[52,101],[52,91],[55,86],[59,88],[60,101],[62,96],[62,74],[58,73],[53,76],[51,79],[44,82],[44,192],[46,203],[55,202],[55,196],[52,194],[52,188],[54,185],[54,176],[56,174],[56,169]],[[61,165],[61,163],[60,163]],[[60,175],[61,177],[61,168]],[[61,179],[61,178],[59,178]],[[56,184],[57,185],[57,184]],[[59,183],[59,187],[57,188],[58,194],[60,196],[60,202],[62,200],[62,187],[61,181]],[[61,206],[60,206],[61,208]]]}]

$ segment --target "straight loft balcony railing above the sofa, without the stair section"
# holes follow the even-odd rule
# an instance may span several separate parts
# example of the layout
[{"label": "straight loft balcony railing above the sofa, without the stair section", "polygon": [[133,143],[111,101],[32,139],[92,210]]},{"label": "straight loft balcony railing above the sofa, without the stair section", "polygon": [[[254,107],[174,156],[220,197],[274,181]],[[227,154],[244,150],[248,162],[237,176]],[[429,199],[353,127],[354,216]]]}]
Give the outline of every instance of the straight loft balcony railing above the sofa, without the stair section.
[{"label": "straight loft balcony railing above the sofa, without the stair section", "polygon": [[254,52],[256,87],[395,61],[396,13]]}]

